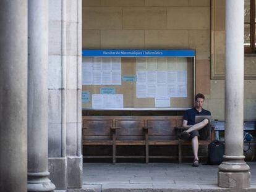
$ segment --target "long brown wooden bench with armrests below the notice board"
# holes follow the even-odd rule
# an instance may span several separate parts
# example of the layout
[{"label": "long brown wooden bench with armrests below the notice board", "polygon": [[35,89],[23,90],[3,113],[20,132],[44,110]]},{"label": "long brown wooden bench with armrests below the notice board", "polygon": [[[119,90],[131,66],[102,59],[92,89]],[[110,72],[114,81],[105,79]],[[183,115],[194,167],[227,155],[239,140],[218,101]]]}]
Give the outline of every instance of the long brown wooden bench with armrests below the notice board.
[{"label": "long brown wooden bench with armrests below the notice board", "polygon": [[[83,116],[83,145],[112,146],[111,156],[84,156],[83,158],[171,158],[173,156],[150,156],[148,146],[178,146],[179,163],[182,160],[182,145],[191,144],[177,138],[176,127],[182,125],[182,116]],[[198,141],[199,145],[207,145],[214,139]],[[144,146],[145,156],[117,156],[116,146]]]}]

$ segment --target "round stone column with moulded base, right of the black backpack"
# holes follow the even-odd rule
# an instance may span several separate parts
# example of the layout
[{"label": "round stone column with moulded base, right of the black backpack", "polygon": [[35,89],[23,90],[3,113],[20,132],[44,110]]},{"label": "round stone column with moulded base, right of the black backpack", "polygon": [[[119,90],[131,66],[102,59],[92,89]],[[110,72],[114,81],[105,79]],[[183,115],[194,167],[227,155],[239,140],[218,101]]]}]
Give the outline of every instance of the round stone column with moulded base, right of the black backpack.
[{"label": "round stone column with moulded base, right of the black backpack", "polygon": [[243,155],[244,1],[226,0],[225,154],[218,186],[247,188],[249,166]]}]

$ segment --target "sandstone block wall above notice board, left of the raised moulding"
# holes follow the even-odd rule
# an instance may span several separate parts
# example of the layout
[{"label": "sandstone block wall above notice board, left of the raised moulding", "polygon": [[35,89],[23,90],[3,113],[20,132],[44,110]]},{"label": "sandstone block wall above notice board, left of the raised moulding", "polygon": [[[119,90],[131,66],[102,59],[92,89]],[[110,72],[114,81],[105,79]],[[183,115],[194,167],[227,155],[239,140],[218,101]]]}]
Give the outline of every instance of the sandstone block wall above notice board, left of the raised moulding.
[{"label": "sandstone block wall above notice board, left of the raised moulding", "polygon": [[83,0],[82,6],[83,49],[196,49],[196,92],[210,94],[210,0]]}]

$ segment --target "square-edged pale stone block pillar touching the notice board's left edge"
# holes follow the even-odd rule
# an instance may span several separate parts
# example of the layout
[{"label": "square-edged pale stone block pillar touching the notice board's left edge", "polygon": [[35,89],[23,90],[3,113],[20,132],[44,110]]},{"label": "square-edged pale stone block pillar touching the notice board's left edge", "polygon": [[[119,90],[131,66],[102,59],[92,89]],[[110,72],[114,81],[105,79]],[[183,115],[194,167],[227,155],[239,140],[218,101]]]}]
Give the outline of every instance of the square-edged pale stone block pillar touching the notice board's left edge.
[{"label": "square-edged pale stone block pillar touching the notice board's left edge", "polygon": [[82,0],[49,0],[49,172],[56,189],[82,186]]}]

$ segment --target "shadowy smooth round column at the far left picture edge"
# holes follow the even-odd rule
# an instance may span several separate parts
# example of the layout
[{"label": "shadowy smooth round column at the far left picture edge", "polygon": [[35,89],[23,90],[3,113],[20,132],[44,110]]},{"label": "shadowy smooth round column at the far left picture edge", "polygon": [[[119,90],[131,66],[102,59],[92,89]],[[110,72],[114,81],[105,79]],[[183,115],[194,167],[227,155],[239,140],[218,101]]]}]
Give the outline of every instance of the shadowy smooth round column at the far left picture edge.
[{"label": "shadowy smooth round column at the far left picture edge", "polygon": [[27,191],[27,1],[0,1],[0,191]]}]

